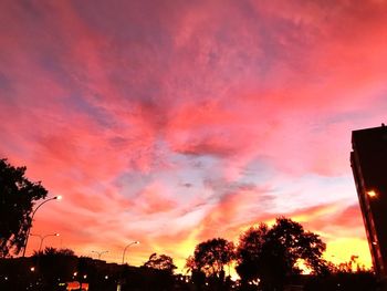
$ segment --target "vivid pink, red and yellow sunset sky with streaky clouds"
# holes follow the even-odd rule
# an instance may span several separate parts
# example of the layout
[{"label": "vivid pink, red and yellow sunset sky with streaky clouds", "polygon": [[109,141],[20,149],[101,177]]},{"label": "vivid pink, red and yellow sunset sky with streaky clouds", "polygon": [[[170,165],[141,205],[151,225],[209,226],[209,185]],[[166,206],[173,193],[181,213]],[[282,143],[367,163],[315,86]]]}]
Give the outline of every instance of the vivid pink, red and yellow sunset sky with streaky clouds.
[{"label": "vivid pink, red and yellow sunset sky with streaky clouds", "polygon": [[[0,2],[0,157],[44,246],[181,271],[285,216],[370,266],[351,133],[387,112],[387,1]],[[27,253],[39,247],[31,237]]]}]

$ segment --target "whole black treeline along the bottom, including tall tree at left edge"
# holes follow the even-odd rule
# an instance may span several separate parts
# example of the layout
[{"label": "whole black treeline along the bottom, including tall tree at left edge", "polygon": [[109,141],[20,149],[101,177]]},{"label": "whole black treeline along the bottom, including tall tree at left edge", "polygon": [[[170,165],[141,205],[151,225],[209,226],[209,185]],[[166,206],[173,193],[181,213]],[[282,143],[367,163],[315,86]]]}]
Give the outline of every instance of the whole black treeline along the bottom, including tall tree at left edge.
[{"label": "whole black treeline along the bottom, including tall tree at left edge", "polygon": [[[0,159],[0,258],[3,258],[0,290],[59,290],[69,280],[90,282],[91,290],[105,291],[114,290],[118,283],[123,291],[282,291],[301,287],[316,291],[372,291],[376,288],[370,272],[359,269],[352,273],[355,258],[347,264],[333,266],[322,257],[326,246],[321,238],[284,217],[271,227],[265,224],[251,227],[241,233],[237,245],[223,238],[197,245],[186,263],[189,278],[175,276],[172,258],[157,253],[142,268],[79,258],[71,250],[50,248],[32,258],[11,259],[12,254],[25,250],[33,214],[50,200],[35,206],[48,191],[40,183],[27,179],[24,173],[25,167],[13,167],[7,159]],[[237,282],[231,280],[231,268],[240,277]],[[302,276],[303,270],[311,276]]]}]

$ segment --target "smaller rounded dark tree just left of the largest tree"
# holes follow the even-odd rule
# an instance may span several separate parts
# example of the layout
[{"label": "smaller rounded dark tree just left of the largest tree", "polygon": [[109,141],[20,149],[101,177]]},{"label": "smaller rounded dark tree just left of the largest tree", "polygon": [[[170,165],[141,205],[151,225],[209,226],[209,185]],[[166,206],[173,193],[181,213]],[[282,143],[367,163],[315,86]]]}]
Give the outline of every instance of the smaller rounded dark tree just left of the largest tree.
[{"label": "smaller rounded dark tree just left of the largest tree", "polygon": [[234,259],[232,241],[215,238],[199,243],[192,257],[186,262],[186,268],[192,273],[203,272],[206,277],[224,279],[224,266]]}]

